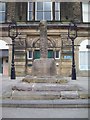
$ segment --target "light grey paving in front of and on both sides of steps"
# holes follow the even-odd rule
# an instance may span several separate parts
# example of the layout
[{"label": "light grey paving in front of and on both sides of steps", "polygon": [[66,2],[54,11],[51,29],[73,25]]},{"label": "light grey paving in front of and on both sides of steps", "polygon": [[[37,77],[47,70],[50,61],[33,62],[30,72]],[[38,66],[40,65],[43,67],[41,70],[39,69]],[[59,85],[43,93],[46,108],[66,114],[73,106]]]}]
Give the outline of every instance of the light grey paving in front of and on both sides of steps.
[{"label": "light grey paving in front of and on both sides of steps", "polygon": [[[16,80],[11,80],[8,77],[0,76],[0,93],[2,90],[7,90],[9,86],[12,86],[21,80],[18,77]],[[67,78],[71,79],[71,78]],[[88,90],[87,77],[78,77],[77,80],[72,80],[73,84],[78,84],[84,89]],[[88,118],[87,108],[2,108],[2,116],[5,118]]]}]

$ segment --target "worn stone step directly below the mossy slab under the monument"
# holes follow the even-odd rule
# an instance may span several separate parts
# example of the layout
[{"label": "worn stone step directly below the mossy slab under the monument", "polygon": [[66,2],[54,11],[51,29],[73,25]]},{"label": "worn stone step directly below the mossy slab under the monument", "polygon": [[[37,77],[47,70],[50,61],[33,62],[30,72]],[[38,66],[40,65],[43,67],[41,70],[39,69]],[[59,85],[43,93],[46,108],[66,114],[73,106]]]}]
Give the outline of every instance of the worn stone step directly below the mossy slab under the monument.
[{"label": "worn stone step directly below the mossy slab under the monument", "polygon": [[51,83],[19,83],[12,87],[18,91],[82,91],[82,87],[74,84],[51,84]]}]

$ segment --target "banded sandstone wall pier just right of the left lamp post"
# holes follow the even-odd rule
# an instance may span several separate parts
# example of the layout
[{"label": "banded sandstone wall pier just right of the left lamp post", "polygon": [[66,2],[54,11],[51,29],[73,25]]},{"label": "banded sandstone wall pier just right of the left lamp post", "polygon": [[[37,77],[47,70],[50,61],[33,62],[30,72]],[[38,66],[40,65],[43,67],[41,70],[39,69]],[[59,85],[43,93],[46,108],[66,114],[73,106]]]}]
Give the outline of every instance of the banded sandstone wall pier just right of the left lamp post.
[{"label": "banded sandstone wall pier just right of the left lamp post", "polygon": [[26,36],[19,36],[15,39],[15,70],[16,76],[26,75]]}]

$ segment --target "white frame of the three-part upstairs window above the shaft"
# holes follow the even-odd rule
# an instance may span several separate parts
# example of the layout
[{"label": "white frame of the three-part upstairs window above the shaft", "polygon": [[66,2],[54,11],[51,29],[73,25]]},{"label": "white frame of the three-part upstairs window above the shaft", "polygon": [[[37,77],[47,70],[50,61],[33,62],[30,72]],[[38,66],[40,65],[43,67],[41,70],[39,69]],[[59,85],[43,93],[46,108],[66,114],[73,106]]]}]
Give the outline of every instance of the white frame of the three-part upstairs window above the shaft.
[{"label": "white frame of the three-part upstairs window above the shaft", "polygon": [[[43,5],[44,5],[44,3],[45,2],[48,2],[48,1],[38,1],[38,2],[42,2],[43,3]],[[39,19],[37,19],[37,3],[38,2],[31,2],[32,3],[32,6],[34,6],[34,8],[35,9],[33,9],[32,8],[32,19],[29,19],[29,17],[30,17],[30,9],[29,9],[29,1],[28,1],[28,9],[27,9],[27,21],[40,21]],[[60,19],[61,19],[61,17],[60,17],[60,2],[55,2],[55,6],[56,6],[56,3],[58,3],[59,4],[59,9],[58,10],[56,10],[57,8],[54,6],[54,2],[52,2],[52,1],[50,1],[50,3],[51,3],[51,9],[50,9],[50,15],[51,15],[51,19],[49,20],[49,19],[44,19],[45,18],[45,12],[48,12],[48,11],[46,11],[46,10],[44,10],[44,7],[43,7],[43,20],[47,20],[47,21],[60,21]],[[34,5],[35,4],[35,5]],[[55,9],[55,10],[53,10],[53,9]],[[58,18],[59,19],[56,19],[56,13],[58,13]]]}]

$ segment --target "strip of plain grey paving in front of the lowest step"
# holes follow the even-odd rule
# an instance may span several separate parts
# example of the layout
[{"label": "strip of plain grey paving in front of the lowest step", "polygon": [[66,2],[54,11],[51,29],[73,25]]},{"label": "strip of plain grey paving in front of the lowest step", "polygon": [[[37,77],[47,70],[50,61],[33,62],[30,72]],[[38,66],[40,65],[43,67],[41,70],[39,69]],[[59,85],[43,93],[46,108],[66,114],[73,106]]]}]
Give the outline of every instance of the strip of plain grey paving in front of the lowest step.
[{"label": "strip of plain grey paving in front of the lowest step", "polygon": [[88,118],[88,109],[3,108],[3,118]]}]

